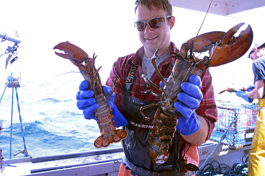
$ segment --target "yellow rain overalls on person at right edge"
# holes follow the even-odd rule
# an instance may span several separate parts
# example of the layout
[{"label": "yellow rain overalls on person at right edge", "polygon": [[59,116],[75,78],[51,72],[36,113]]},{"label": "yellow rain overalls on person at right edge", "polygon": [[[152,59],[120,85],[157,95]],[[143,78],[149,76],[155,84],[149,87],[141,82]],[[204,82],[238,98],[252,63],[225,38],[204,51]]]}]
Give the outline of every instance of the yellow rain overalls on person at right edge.
[{"label": "yellow rain overalls on person at right edge", "polygon": [[249,150],[249,176],[265,175],[265,98],[259,99],[259,113]]}]

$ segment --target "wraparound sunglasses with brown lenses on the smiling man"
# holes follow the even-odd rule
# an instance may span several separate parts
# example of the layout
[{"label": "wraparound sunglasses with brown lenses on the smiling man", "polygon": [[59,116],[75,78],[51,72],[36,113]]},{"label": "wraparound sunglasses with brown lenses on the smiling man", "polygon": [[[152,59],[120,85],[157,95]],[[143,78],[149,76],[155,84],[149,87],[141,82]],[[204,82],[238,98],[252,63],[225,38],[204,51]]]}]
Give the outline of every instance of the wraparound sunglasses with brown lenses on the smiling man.
[{"label": "wraparound sunglasses with brown lenses on the smiling man", "polygon": [[136,21],[134,23],[134,26],[137,28],[138,31],[143,31],[145,29],[146,24],[148,24],[148,26],[153,29],[159,28],[165,24],[165,18],[169,17],[171,16],[159,16],[147,21]]}]

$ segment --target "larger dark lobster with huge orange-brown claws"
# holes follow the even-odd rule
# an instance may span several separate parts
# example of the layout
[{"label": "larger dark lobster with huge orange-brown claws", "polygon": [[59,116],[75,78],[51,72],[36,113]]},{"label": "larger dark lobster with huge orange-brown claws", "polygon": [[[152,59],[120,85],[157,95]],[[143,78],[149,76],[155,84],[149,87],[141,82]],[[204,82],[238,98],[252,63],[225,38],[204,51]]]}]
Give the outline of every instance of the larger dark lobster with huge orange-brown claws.
[{"label": "larger dark lobster with huge orange-brown claws", "polygon": [[[178,53],[170,53],[170,56],[175,57],[177,60],[167,80],[158,71],[155,60],[159,58],[159,49],[155,51],[151,62],[155,67],[158,77],[165,86],[164,88],[158,87],[145,75],[142,75],[149,87],[155,87],[162,94],[155,94],[152,89],[142,92],[143,94],[151,93],[159,98],[160,101],[157,104],[150,104],[140,108],[142,116],[146,120],[149,120],[150,118],[144,115],[143,110],[151,106],[159,106],[154,115],[153,127],[148,138],[148,142],[150,143],[148,157],[154,163],[163,164],[168,160],[169,145],[174,137],[175,127],[178,124],[178,117],[180,115],[173,105],[178,101],[178,93],[182,92],[180,88],[181,83],[188,81],[189,76],[192,74],[199,75],[209,67],[216,67],[232,62],[244,55],[250,48],[253,40],[251,26],[248,25],[244,31],[241,31],[238,37],[234,37],[234,34],[244,24],[239,23],[226,33],[221,31],[204,33],[183,43]],[[201,53],[205,51],[209,51],[209,56],[205,56],[201,60],[193,56],[193,52]]]}]

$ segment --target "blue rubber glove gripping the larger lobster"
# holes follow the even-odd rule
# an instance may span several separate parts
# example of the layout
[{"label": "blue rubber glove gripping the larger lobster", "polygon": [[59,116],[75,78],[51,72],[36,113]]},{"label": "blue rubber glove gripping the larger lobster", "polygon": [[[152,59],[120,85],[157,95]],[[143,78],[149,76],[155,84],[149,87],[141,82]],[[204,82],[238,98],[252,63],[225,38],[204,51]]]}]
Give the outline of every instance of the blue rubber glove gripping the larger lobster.
[{"label": "blue rubber glove gripping the larger lobster", "polygon": [[[174,103],[175,109],[180,112],[176,129],[185,136],[191,135],[200,128],[200,121],[195,109],[199,107],[203,98],[201,78],[191,75],[188,81],[181,84],[183,92],[177,95],[179,101]],[[163,82],[160,82],[160,86],[163,87]]]}]

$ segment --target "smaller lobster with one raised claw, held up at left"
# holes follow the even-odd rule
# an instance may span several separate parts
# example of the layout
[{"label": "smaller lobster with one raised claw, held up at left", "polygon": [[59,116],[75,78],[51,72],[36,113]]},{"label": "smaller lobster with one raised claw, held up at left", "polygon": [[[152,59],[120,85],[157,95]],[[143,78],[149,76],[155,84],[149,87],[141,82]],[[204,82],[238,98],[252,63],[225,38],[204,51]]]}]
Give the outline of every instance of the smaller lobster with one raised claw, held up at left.
[{"label": "smaller lobster with one raised claw, held up at left", "polygon": [[110,94],[105,96],[102,90],[101,79],[98,74],[101,67],[98,69],[95,67],[95,59],[97,57],[95,56],[95,53],[93,58],[91,58],[84,50],[68,41],[59,43],[54,46],[53,49],[64,51],[64,53],[57,53],[55,51],[55,54],[65,59],[69,59],[75,66],[77,66],[84,79],[89,82],[91,90],[94,92],[93,97],[95,98],[95,102],[99,105],[99,108],[95,111],[95,117],[101,133],[101,136],[99,136],[94,142],[95,148],[108,147],[111,143],[117,143],[122,139],[125,139],[127,137],[127,131],[116,129],[114,120],[112,119],[112,110],[106,103],[107,98],[114,92],[119,79],[117,79]]}]

